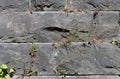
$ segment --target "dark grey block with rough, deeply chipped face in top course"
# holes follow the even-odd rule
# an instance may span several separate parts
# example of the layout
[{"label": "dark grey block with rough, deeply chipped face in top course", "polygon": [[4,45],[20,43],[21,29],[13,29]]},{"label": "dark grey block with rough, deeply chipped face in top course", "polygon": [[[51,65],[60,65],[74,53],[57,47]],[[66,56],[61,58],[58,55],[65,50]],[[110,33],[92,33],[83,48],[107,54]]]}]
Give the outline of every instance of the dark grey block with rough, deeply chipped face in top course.
[{"label": "dark grey block with rough, deeply chipped face in top course", "polygon": [[65,0],[31,0],[32,9],[35,11],[53,10],[60,11],[64,9]]}]

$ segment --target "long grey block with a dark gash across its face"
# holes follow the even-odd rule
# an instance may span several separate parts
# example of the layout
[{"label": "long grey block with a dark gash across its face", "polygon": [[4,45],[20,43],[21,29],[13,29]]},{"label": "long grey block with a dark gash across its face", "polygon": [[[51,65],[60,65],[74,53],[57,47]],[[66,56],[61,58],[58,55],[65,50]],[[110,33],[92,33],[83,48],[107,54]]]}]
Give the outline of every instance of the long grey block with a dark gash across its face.
[{"label": "long grey block with a dark gash across its face", "polygon": [[67,35],[74,27],[86,39],[91,22],[92,12],[68,15],[65,12],[5,12],[0,14],[0,42],[51,42],[61,39],[62,34]]}]

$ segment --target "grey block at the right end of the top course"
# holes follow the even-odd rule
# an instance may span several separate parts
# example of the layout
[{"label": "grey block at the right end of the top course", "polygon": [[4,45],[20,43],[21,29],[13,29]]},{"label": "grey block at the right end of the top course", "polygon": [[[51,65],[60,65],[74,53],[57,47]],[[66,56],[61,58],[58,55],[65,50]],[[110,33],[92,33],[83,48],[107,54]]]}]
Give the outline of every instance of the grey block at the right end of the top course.
[{"label": "grey block at the right end of the top course", "polygon": [[71,0],[74,9],[94,10],[120,10],[120,0]]}]

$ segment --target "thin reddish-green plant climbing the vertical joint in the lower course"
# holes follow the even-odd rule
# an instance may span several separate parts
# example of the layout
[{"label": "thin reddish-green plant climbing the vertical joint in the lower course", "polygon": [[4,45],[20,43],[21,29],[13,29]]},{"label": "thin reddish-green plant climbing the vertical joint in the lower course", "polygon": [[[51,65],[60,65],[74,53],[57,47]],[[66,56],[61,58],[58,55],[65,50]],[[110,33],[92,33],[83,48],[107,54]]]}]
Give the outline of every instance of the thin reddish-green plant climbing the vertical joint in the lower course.
[{"label": "thin reddish-green plant climbing the vertical joint in the lower course", "polygon": [[[29,48],[29,55],[31,57],[30,61],[24,61],[20,58],[17,58],[15,59],[16,61],[19,61],[21,63],[23,63],[24,65],[24,71],[23,71],[23,74],[22,75],[22,79],[24,78],[24,76],[33,76],[33,75],[37,75],[38,71],[37,69],[35,70],[34,69],[34,64],[35,64],[35,57],[36,57],[36,44],[35,43],[32,43],[32,46]],[[30,62],[30,63],[29,63]],[[30,65],[29,67],[27,65]]]}]

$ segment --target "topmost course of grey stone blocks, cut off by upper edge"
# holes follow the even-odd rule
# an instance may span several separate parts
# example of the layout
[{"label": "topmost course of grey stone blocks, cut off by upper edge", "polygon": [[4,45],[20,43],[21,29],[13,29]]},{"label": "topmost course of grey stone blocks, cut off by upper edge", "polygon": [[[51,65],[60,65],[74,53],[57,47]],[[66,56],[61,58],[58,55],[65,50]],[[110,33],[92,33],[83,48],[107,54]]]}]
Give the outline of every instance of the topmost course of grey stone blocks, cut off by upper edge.
[{"label": "topmost course of grey stone blocks, cut off by upper edge", "polygon": [[[24,12],[29,10],[29,0],[0,0],[0,12]],[[31,0],[33,11],[64,11],[66,5],[71,3],[73,10],[120,10],[119,0]]]}]

